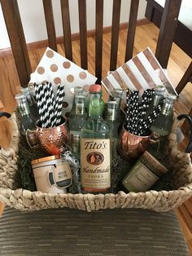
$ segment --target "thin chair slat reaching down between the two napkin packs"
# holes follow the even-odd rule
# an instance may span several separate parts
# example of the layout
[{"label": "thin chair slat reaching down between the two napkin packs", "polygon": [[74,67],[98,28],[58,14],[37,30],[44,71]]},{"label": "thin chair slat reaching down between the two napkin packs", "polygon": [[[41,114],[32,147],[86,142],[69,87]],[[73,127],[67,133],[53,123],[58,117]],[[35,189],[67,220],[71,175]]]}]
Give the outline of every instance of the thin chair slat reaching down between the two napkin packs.
[{"label": "thin chair slat reaching down between the two napkin packs", "polygon": [[95,76],[98,82],[102,80],[103,63],[103,0],[96,0],[96,26],[95,26]]}]

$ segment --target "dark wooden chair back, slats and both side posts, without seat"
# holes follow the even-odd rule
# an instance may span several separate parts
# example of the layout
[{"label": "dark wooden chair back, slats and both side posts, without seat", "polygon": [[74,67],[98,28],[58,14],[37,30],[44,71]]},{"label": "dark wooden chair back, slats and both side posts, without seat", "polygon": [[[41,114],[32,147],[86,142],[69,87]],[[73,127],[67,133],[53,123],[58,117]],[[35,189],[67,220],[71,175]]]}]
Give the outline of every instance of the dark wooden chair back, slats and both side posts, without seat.
[{"label": "dark wooden chair back, slats and both side posts, without seat", "polygon": [[[177,8],[181,0],[177,0]],[[42,0],[46,29],[48,36],[48,45],[53,50],[57,51],[57,43],[55,36],[55,22],[53,15],[53,8],[51,0]],[[20,85],[27,86],[32,68],[28,57],[28,47],[24,37],[24,29],[20,19],[20,11],[18,3],[15,0],[1,0],[2,11],[7,25],[7,32],[11,42],[11,49],[15,58],[15,65],[17,73],[20,78]],[[111,20],[111,55],[110,70],[116,69],[117,51],[118,51],[118,37],[120,28],[120,0],[113,1],[113,11]],[[128,1],[129,4],[129,1]],[[139,0],[132,0],[130,6],[127,42],[124,44],[125,56],[124,62],[132,58],[133,44],[135,37],[135,29],[137,25],[137,10]],[[172,12],[172,1],[166,1],[164,10],[164,17],[159,32],[159,40],[156,47],[156,57],[159,63],[166,68],[168,64],[169,53],[172,46],[172,39],[177,23],[177,8]],[[86,1],[78,1],[79,8],[79,38],[81,48],[81,67],[88,68],[88,54],[87,54],[87,22],[86,22]],[[102,80],[103,69],[103,0],[96,1],[96,20],[95,20],[95,76],[98,77],[98,82]],[[68,0],[61,0],[61,11],[63,20],[63,42],[65,48],[66,58],[73,60],[72,56],[72,34],[69,19]],[[164,49],[164,51],[161,51]]]}]

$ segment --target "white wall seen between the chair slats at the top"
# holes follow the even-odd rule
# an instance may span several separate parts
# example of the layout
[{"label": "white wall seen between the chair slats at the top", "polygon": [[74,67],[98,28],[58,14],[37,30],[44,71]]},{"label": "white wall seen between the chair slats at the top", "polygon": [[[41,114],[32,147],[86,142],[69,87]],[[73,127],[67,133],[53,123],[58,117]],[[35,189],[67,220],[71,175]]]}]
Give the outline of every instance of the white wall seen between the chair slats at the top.
[{"label": "white wall seen between the chair slats at the top", "polygon": [[[56,36],[62,36],[62,22],[61,22],[61,12],[60,12],[60,1],[54,0],[54,16],[55,16],[55,28],[56,28]],[[122,0],[121,6],[121,15],[120,22],[127,22],[129,19],[129,0]],[[18,0],[20,7],[20,15],[21,20],[24,25],[24,33],[27,42],[37,42],[47,38],[46,34],[46,24],[43,14],[43,7],[41,0]],[[69,1],[71,7],[71,29],[72,33],[76,33],[79,31],[78,27],[78,10],[77,10],[77,0]],[[87,26],[88,29],[94,29],[94,7],[95,0],[87,0]],[[111,25],[111,12],[112,12],[112,0],[104,1],[104,26]],[[139,11],[137,20],[141,20],[145,16],[146,10],[146,0],[140,0]],[[5,21],[2,15],[2,7],[0,8],[0,49],[10,47],[9,38],[7,35],[7,29],[5,25]]]}]

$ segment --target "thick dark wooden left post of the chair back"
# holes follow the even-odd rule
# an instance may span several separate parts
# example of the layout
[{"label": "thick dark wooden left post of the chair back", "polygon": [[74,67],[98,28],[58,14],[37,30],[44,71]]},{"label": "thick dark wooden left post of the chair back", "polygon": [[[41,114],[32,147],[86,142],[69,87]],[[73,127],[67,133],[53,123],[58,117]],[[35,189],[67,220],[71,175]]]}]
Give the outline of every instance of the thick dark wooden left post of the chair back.
[{"label": "thick dark wooden left post of the chair back", "polygon": [[20,85],[26,87],[28,86],[32,68],[24,38],[24,29],[20,20],[18,3],[15,0],[1,0],[1,3],[17,73],[20,78]]}]

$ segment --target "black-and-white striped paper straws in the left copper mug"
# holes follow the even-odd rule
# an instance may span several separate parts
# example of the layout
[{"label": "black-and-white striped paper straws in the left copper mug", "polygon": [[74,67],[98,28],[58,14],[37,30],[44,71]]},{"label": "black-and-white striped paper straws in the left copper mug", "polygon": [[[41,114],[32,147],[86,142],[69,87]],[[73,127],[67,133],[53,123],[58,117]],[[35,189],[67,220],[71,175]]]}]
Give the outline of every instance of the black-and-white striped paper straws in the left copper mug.
[{"label": "black-and-white striped paper straws in the left copper mug", "polygon": [[34,87],[41,127],[59,126],[62,115],[64,85],[59,84],[56,99],[50,82],[34,84]]}]

